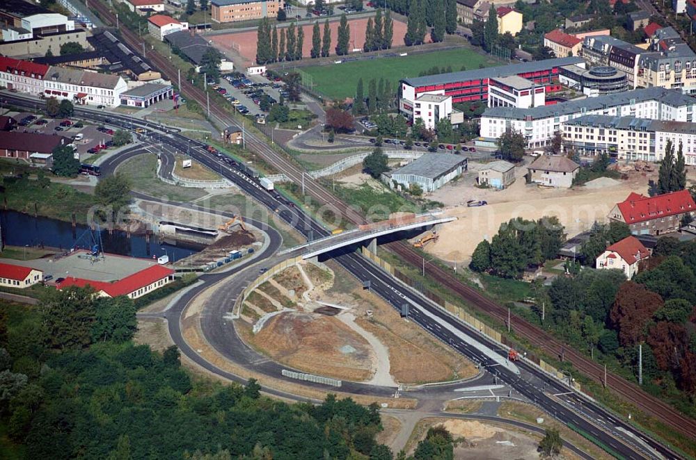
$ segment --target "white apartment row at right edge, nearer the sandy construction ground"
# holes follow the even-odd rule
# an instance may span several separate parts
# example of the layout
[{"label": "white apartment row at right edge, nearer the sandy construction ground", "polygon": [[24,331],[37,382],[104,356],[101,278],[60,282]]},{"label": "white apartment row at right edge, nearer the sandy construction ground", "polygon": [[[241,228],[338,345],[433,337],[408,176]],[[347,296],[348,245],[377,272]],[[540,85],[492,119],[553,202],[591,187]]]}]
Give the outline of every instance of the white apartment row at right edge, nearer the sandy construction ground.
[{"label": "white apartment row at right edge, nearer the sandy construction ground", "polygon": [[686,164],[696,165],[696,124],[691,122],[585,115],[564,122],[562,135],[564,150],[631,161],[662,161],[667,142],[674,149],[681,144]]}]

